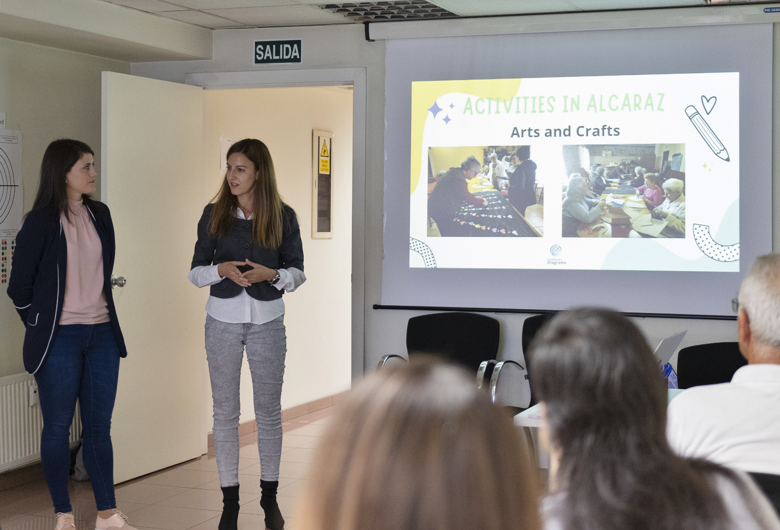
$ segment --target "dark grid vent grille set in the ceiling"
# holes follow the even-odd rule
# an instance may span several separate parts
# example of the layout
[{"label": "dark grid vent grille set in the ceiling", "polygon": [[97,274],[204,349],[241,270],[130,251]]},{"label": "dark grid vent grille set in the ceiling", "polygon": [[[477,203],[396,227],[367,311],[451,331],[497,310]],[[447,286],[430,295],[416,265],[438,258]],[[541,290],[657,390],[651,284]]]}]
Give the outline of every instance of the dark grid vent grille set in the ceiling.
[{"label": "dark grid vent grille set in the ceiling", "polygon": [[373,20],[423,20],[457,16],[427,0],[378,0],[320,4],[321,9],[345,16],[355,22]]}]

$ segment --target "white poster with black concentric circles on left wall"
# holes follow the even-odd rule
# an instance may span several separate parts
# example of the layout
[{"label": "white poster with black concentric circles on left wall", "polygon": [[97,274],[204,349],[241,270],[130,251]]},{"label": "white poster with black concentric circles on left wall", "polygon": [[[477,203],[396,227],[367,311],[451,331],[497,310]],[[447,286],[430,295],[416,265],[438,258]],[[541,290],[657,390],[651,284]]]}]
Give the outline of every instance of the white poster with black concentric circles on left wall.
[{"label": "white poster with black concentric circles on left wall", "polygon": [[0,130],[0,239],[16,239],[22,228],[22,135]]}]

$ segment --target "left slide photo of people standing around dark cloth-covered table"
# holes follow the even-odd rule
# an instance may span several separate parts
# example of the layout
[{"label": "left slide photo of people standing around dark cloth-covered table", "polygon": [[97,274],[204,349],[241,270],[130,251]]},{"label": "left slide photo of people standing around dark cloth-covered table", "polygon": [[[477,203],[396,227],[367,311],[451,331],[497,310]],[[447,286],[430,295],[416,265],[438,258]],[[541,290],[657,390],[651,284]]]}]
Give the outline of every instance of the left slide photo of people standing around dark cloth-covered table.
[{"label": "left slide photo of people standing around dark cloth-covered table", "polygon": [[428,237],[542,237],[528,145],[428,148]]}]

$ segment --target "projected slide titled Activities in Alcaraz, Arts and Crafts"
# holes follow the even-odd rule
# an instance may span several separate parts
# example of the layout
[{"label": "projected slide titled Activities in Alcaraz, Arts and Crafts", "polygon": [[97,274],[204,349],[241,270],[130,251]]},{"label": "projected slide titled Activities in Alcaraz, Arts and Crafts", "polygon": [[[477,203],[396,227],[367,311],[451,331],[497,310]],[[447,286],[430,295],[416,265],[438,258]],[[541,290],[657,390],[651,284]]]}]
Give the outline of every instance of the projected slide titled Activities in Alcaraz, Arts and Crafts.
[{"label": "projected slide titled Activities in Alcaraz, Arts and Crafts", "polygon": [[739,271],[739,73],[420,81],[411,118],[410,267]]}]

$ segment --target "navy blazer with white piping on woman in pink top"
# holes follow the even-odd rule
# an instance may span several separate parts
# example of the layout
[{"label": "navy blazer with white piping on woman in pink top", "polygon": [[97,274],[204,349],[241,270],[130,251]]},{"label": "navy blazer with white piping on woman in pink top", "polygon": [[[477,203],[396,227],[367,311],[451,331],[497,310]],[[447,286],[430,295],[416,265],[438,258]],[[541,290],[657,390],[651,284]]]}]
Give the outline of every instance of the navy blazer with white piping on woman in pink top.
[{"label": "navy blazer with white piping on woman in pink top", "polygon": [[[90,201],[85,205],[103,246],[103,292],[119,356],[127,357],[111,290],[116,250],[111,212],[102,202]],[[44,365],[57,336],[67,265],[68,244],[57,209],[49,206],[28,213],[16,236],[8,295],[27,329],[22,352],[24,369],[30,374]]]}]

